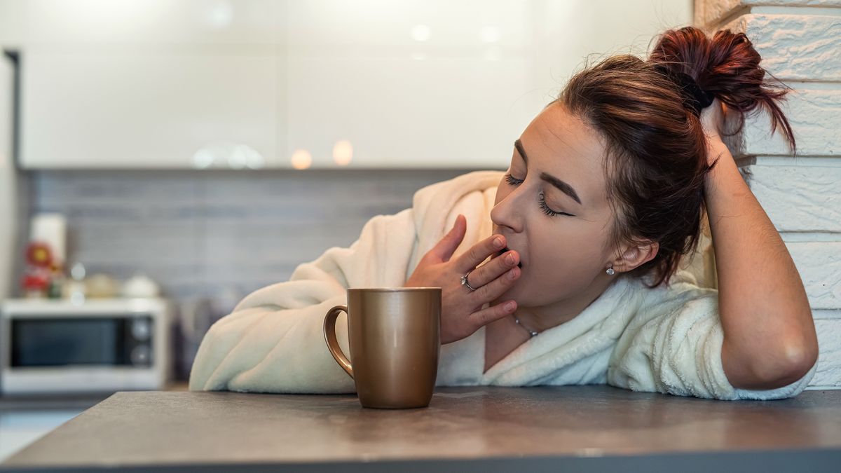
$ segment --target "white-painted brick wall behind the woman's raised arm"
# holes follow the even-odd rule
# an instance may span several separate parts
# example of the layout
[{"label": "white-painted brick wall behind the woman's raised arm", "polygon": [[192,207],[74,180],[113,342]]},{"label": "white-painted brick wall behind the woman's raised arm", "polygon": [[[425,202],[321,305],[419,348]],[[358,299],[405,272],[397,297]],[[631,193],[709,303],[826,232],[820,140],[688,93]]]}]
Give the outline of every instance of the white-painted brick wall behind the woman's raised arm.
[{"label": "white-painted brick wall behind the woman's raised arm", "polygon": [[748,35],[795,89],[797,157],[764,114],[727,144],[806,286],[820,345],[810,389],[841,389],[841,0],[697,0],[695,13],[708,31]]}]

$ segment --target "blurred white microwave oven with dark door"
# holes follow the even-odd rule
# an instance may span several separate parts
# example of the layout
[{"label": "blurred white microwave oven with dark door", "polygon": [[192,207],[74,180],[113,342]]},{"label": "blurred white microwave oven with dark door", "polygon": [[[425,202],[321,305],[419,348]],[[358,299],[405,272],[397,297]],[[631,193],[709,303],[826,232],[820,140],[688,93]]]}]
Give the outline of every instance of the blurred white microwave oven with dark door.
[{"label": "blurred white microwave oven with dark door", "polygon": [[5,300],[0,393],[161,390],[172,374],[164,299]]}]

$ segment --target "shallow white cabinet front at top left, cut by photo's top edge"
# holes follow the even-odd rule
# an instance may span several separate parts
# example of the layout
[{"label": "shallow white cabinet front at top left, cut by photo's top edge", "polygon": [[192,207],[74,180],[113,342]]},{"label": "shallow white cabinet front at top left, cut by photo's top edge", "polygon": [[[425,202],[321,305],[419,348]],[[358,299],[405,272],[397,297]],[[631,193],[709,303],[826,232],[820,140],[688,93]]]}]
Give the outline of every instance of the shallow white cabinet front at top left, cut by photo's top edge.
[{"label": "shallow white cabinet front at top left, cut by photo's top edge", "polygon": [[[0,40],[67,47],[273,44],[287,0],[3,0]],[[16,39],[16,40],[15,40]]]}]

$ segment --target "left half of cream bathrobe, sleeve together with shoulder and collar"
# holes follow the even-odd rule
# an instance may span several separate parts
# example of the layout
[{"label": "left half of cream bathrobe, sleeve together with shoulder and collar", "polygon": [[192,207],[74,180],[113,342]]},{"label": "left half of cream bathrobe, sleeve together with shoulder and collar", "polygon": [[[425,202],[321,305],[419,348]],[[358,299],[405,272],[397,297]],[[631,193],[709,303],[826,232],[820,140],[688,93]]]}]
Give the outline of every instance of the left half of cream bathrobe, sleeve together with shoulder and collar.
[{"label": "left half of cream bathrobe, sleeve together with shoulder and collar", "polygon": [[[327,311],[346,304],[350,287],[402,287],[458,214],[467,217],[468,230],[454,255],[471,247],[489,231],[477,224],[488,221],[501,175],[476,171],[428,185],[415,192],[410,209],[373,217],[350,247],[332,247],[300,264],[288,281],[246,296],[204,336],[190,390],[355,392],[327,349]],[[336,320],[336,337],[350,355],[344,312]]]}]

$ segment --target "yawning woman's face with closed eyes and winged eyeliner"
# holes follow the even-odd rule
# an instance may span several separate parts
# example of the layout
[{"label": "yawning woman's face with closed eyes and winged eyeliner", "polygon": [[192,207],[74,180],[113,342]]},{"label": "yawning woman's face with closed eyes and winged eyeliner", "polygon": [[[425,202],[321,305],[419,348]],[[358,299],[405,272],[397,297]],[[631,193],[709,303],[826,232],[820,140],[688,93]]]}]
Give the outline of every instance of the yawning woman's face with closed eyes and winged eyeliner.
[{"label": "yawning woman's face with closed eyes and winged eyeliner", "polygon": [[597,296],[610,283],[605,248],[613,219],[606,198],[605,146],[594,130],[555,103],[517,141],[490,212],[494,233],[520,253],[522,274],[500,300],[547,306]]}]

